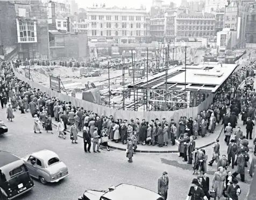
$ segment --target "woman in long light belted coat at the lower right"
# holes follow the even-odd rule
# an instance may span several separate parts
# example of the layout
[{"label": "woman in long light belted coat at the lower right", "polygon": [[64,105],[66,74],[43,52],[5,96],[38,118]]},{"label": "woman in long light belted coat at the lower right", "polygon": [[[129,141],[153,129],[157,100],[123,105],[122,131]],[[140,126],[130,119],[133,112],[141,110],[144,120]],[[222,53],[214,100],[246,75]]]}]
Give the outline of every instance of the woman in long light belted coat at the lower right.
[{"label": "woman in long light belted coat at the lower right", "polygon": [[224,187],[226,187],[226,173],[223,167],[219,167],[218,172],[215,172],[212,178],[212,190],[216,191],[216,198],[218,200],[223,196]]}]

